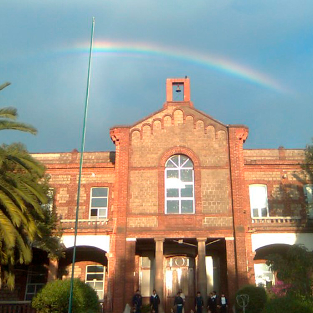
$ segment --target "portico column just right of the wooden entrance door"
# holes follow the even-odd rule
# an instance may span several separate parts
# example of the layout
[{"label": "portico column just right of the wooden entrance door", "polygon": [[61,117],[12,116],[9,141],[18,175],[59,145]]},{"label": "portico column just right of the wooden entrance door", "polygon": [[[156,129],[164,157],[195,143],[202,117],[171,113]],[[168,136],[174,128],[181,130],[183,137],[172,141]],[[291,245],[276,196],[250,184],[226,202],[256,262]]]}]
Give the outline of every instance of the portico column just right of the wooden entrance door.
[{"label": "portico column just right of the wooden entrance door", "polygon": [[197,238],[198,241],[198,271],[197,271],[197,281],[198,281],[198,290],[201,292],[203,297],[204,307],[202,312],[206,312],[207,305],[207,271],[205,268],[205,242],[206,238]]}]

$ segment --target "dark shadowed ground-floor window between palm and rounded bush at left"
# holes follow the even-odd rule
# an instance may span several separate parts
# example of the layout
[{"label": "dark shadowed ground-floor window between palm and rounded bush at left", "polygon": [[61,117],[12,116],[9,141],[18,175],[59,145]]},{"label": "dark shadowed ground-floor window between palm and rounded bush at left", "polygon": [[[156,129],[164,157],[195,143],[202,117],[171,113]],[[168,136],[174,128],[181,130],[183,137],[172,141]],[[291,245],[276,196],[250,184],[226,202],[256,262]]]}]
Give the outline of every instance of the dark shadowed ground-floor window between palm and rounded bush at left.
[{"label": "dark shadowed ground-floor window between palm and rounded bush at left", "polygon": [[44,266],[30,265],[28,267],[25,300],[32,300],[33,297],[47,283],[48,269]]}]

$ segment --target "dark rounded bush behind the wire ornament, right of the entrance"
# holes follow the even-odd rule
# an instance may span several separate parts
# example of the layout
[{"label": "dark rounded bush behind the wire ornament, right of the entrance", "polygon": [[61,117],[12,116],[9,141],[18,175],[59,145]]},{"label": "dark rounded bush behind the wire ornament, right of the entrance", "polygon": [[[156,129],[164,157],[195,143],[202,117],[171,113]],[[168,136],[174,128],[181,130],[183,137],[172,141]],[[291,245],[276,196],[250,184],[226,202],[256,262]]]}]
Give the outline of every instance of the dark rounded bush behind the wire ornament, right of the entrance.
[{"label": "dark rounded bush behind the wire ornament, right of the entrance", "polygon": [[[263,287],[245,286],[237,291],[237,295],[249,295],[249,303],[245,309],[246,313],[260,313],[267,301],[266,291]],[[236,312],[243,312],[237,301]]]}]

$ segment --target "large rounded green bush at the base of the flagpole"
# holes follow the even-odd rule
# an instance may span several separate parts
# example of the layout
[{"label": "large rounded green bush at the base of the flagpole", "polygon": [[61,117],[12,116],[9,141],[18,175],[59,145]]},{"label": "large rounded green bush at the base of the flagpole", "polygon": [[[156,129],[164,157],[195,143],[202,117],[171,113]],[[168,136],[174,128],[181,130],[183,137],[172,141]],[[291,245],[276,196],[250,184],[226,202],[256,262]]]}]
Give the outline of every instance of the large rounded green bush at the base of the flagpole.
[{"label": "large rounded green bush at the base of the flagpole", "polygon": [[[70,280],[49,282],[32,302],[37,313],[67,313],[69,310]],[[94,289],[79,279],[74,279],[73,313],[98,313],[98,295]]]}]

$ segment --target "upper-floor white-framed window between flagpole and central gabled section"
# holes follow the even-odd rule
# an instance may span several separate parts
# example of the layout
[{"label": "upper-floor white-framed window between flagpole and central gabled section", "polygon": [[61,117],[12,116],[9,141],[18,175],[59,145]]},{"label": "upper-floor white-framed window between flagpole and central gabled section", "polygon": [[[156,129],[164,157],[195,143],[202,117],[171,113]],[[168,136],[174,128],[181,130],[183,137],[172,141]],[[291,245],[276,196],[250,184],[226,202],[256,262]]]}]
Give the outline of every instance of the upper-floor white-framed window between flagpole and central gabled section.
[{"label": "upper-floor white-framed window between flagpole and central gabled section", "polygon": [[107,187],[93,187],[90,195],[90,219],[105,219],[108,216]]}]

